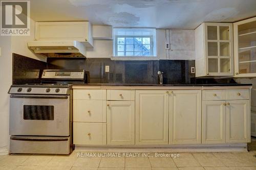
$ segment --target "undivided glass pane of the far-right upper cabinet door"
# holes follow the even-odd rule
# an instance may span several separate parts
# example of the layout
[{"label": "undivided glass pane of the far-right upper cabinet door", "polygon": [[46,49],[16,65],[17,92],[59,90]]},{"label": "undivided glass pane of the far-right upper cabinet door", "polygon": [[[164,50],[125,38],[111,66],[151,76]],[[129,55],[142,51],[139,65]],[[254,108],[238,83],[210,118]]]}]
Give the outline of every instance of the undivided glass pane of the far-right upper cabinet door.
[{"label": "undivided glass pane of the far-right upper cabinet door", "polygon": [[238,64],[239,74],[256,73],[256,21],[238,26]]}]

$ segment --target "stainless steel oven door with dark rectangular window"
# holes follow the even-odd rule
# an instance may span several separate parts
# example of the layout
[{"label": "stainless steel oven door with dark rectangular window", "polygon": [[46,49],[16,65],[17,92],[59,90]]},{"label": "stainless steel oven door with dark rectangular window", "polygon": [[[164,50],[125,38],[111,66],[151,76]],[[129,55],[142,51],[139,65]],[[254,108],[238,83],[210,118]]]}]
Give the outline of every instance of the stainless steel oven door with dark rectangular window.
[{"label": "stainless steel oven door with dark rectangular window", "polygon": [[11,95],[10,135],[69,136],[69,95]]}]

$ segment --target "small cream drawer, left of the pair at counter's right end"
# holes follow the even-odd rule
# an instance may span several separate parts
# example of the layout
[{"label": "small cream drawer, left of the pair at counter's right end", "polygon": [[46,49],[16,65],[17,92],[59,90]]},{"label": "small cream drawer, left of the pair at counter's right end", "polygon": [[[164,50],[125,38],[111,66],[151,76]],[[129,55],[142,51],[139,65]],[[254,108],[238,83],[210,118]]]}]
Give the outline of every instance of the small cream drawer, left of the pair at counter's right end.
[{"label": "small cream drawer, left of the pair at counter's right end", "polygon": [[204,101],[226,100],[225,90],[203,90]]}]

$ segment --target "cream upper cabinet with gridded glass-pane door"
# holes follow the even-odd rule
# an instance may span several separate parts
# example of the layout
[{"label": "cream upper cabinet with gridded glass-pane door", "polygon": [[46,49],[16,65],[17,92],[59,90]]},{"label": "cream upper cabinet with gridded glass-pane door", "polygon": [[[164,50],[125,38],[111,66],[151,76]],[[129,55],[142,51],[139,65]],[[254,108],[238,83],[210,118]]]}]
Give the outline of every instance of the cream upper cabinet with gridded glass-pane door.
[{"label": "cream upper cabinet with gridded glass-pane door", "polygon": [[202,23],[195,31],[196,77],[233,76],[232,23]]}]

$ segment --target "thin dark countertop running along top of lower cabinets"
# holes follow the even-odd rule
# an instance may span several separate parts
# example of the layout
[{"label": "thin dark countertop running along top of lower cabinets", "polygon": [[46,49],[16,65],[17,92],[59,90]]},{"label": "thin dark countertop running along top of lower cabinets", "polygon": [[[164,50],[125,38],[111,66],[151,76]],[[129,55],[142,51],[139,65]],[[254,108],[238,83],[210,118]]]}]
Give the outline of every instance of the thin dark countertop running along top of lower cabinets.
[{"label": "thin dark countertop running along top of lower cabinets", "polygon": [[252,86],[252,84],[73,84],[73,86]]}]

